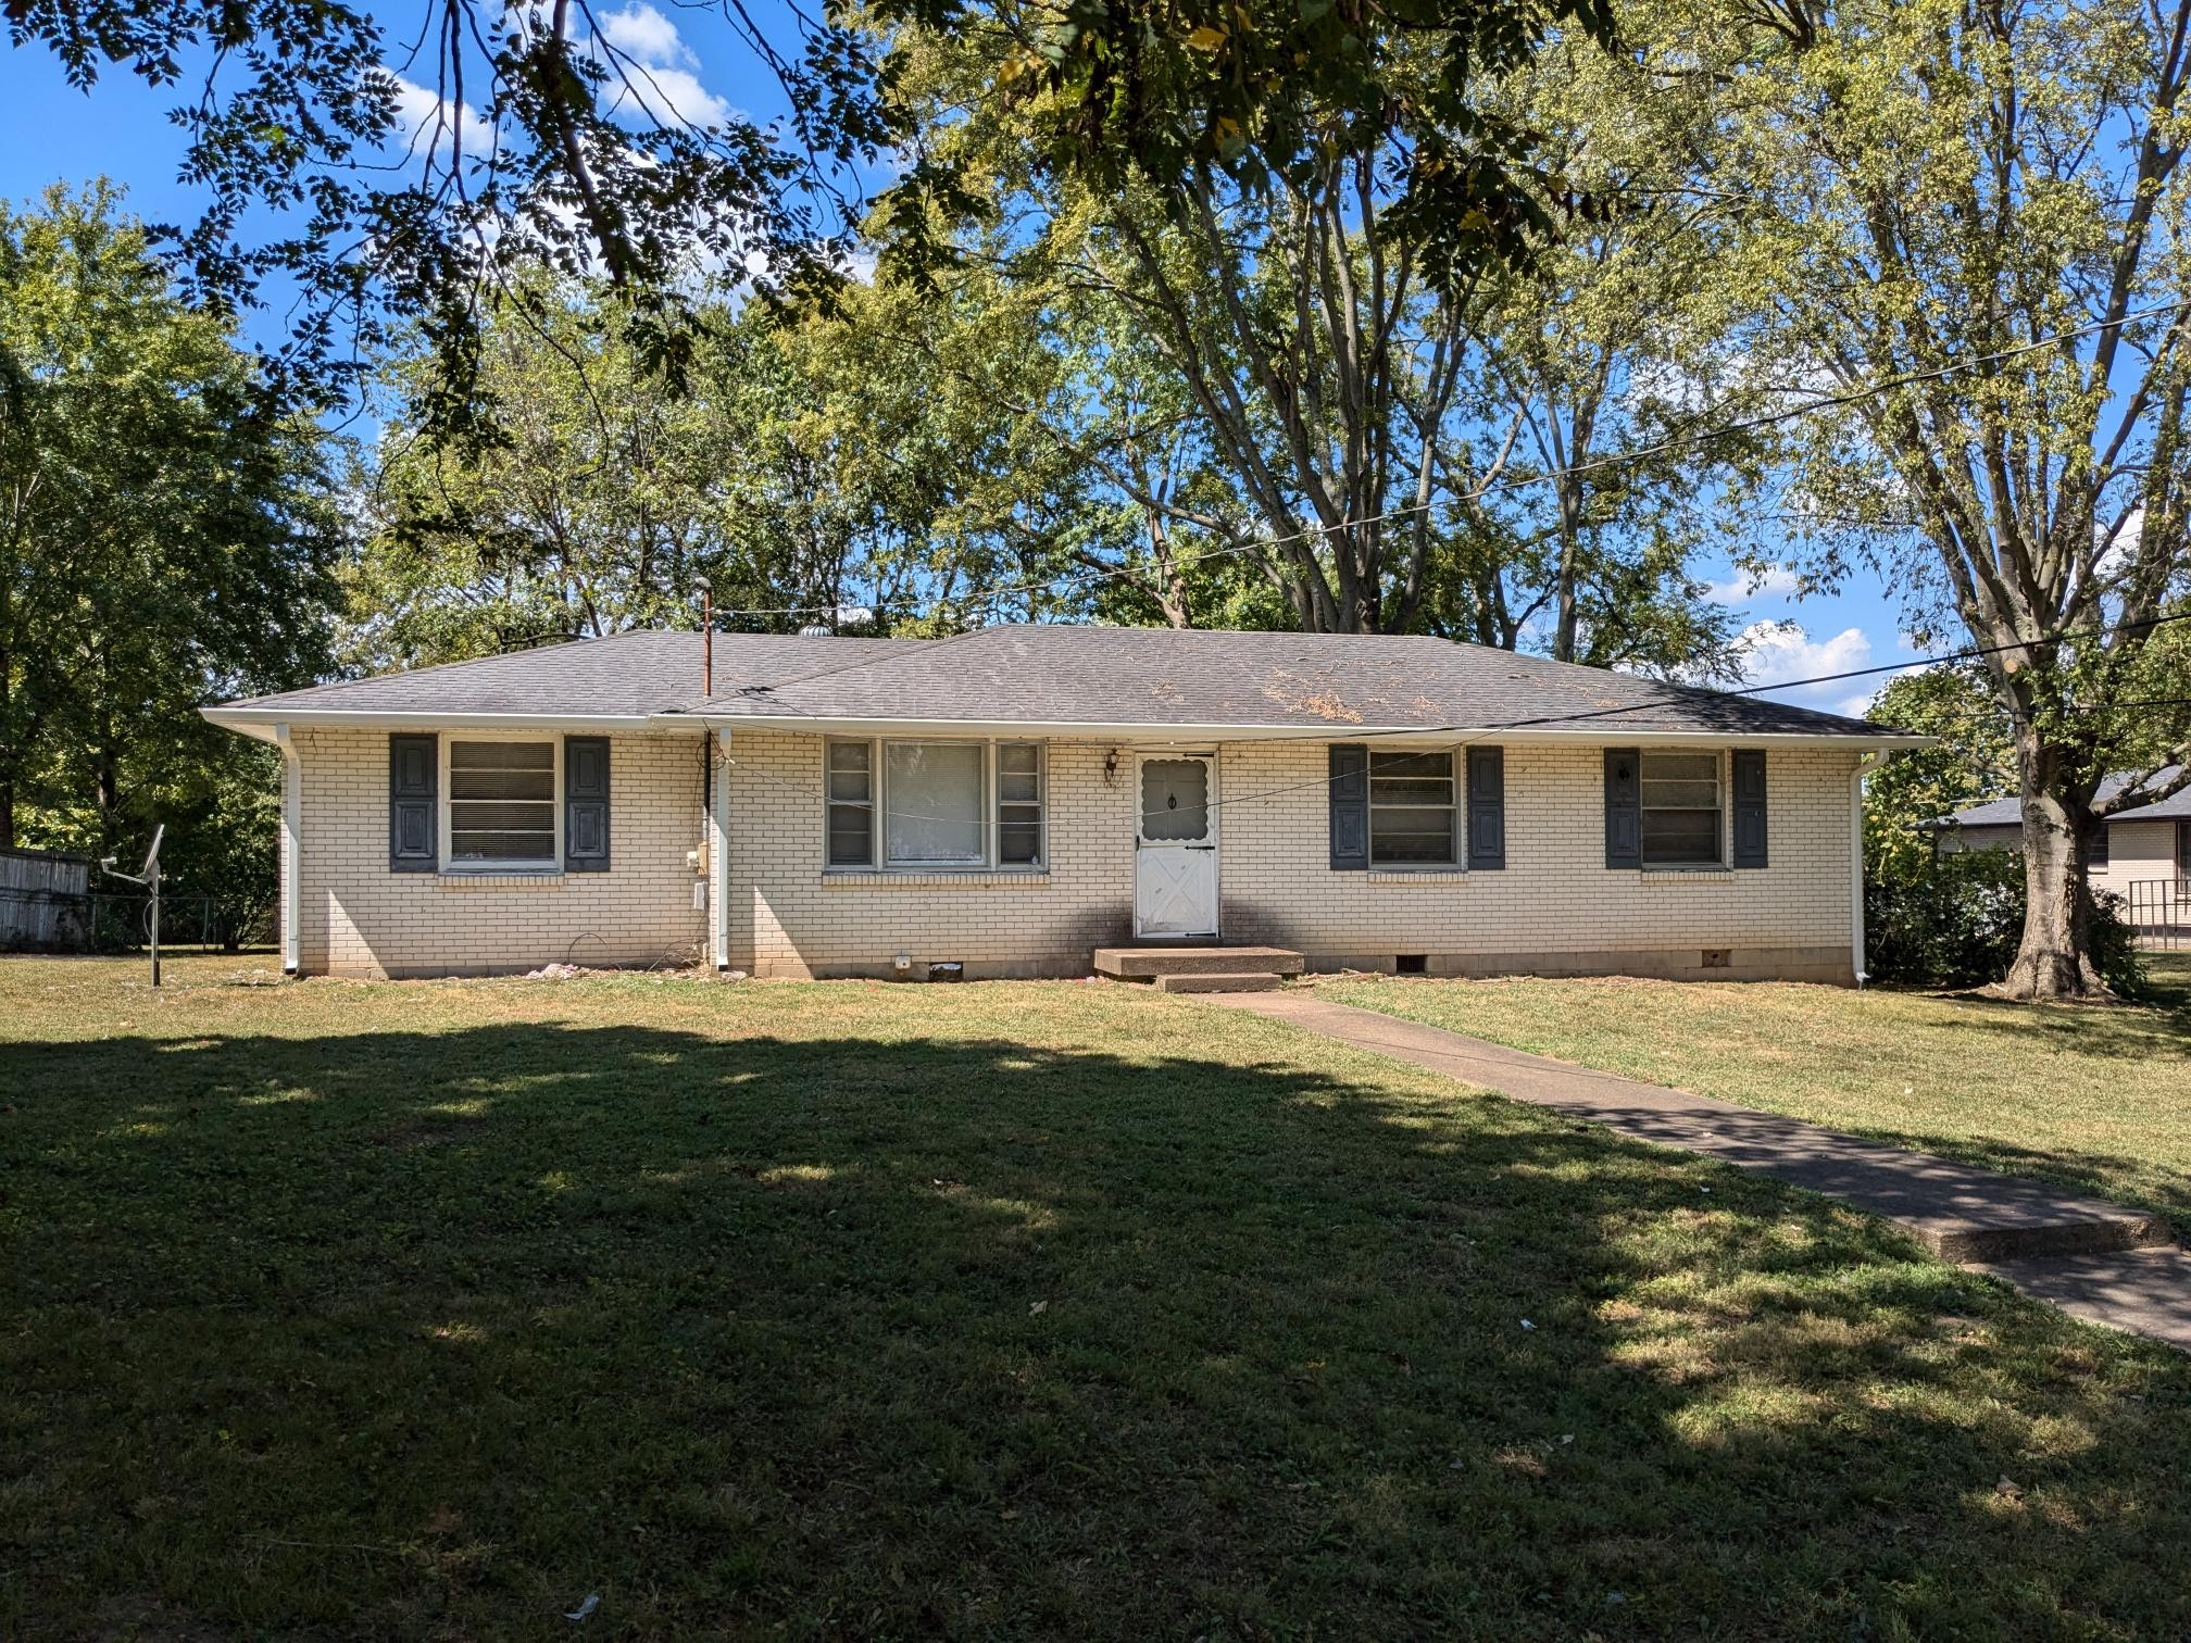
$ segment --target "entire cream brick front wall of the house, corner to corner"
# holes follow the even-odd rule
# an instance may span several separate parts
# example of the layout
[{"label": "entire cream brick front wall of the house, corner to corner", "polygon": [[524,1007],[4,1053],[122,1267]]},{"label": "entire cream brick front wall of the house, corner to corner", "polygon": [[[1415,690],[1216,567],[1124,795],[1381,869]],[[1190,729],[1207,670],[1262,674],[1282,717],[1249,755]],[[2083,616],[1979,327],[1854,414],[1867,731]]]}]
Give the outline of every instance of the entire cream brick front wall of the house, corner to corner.
[{"label": "entire cream brick front wall of the house, corner to corner", "polygon": [[[613,745],[613,870],[550,878],[388,872],[388,740],[300,732],[302,968],[434,975],[572,957],[651,962],[706,940],[686,852],[703,843],[697,736]],[[756,975],[1085,975],[1133,938],[1133,749],[1052,743],[1043,874],[826,874],[822,738],[736,732],[723,767],[727,955]],[[1295,946],[1315,968],[1501,968],[1849,979],[1854,754],[1770,754],[1770,857],[1759,872],[1604,865],[1595,747],[1507,747],[1507,868],[1330,872],[1326,751],[1234,743],[1218,754],[1223,933]]]}]

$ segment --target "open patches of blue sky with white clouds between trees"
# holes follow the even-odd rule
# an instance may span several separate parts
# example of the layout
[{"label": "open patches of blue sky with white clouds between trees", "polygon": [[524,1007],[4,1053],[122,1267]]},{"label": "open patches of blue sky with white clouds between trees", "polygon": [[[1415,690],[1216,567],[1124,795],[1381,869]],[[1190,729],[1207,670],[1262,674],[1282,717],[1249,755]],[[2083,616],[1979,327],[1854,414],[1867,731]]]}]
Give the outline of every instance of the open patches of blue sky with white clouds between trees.
[{"label": "open patches of blue sky with white clouds between trees", "polygon": [[[390,37],[416,31],[423,7],[381,7]],[[708,118],[727,107],[769,116],[780,110],[778,88],[756,72],[719,13],[706,7],[644,4],[638,0],[598,11],[603,28],[646,66],[655,88],[681,114]],[[90,182],[105,175],[127,188],[127,204],[149,219],[188,221],[199,197],[175,180],[177,134],[167,120],[173,90],[153,92],[131,77],[103,79],[90,94],[72,90],[55,59],[39,46],[0,46],[0,195],[22,202],[46,184]],[[390,66],[401,72],[399,48]],[[429,79],[425,70],[416,79]],[[432,110],[421,90],[416,105]],[[280,315],[259,313],[248,329],[259,340],[278,335]],[[1759,633],[1751,651],[1751,681],[1773,683],[1823,673],[1847,673],[1908,659],[1889,589],[1856,572],[1836,594],[1790,598],[1790,576],[1764,585],[1729,565],[1709,567],[1713,583],[1744,622],[1792,622],[1792,631]],[[1773,692],[1788,701],[1838,712],[1860,712],[1882,679]]]}]

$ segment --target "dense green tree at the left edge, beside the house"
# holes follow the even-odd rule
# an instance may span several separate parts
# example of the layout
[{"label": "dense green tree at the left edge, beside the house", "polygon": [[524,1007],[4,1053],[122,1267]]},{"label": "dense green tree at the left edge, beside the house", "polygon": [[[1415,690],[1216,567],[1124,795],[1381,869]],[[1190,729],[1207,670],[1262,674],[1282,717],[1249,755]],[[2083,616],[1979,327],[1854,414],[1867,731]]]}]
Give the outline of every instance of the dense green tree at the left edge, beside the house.
[{"label": "dense green tree at the left edge, beside the house", "polygon": [[272,765],[197,708],[326,666],[324,436],[105,186],[0,206],[0,841],[127,857],[167,822],[177,889],[259,896]]}]

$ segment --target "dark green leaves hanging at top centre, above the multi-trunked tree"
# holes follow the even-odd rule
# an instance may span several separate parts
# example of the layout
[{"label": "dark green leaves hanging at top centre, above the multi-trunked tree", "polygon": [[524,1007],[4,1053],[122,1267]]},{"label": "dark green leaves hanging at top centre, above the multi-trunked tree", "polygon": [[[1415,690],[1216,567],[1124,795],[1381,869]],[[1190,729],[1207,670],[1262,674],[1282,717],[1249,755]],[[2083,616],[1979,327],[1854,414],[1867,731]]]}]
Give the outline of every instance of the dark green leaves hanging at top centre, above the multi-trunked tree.
[{"label": "dark green leaves hanging at top centre, above the multi-trunked tree", "polygon": [[[1538,134],[1481,88],[1525,64],[1553,24],[1613,39],[1602,0],[1122,0],[1067,13],[883,0],[876,15],[990,39],[990,107],[1023,125],[1039,164],[1098,193],[1203,191],[1214,177],[1275,193],[1326,169],[1334,145],[1376,140],[1391,153],[1396,223],[1435,285],[1521,265],[1551,230],[1551,186],[1532,166]],[[903,50],[890,70],[903,85]],[[907,223],[936,204],[984,212],[984,169],[964,149],[925,147],[890,204]],[[914,248],[925,272],[933,245]]]}]

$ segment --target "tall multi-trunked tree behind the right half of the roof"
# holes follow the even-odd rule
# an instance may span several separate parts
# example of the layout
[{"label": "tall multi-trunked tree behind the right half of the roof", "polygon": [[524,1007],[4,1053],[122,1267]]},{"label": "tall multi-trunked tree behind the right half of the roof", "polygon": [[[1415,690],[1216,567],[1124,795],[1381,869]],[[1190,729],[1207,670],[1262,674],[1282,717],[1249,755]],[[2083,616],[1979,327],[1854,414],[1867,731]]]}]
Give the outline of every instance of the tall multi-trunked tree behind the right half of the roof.
[{"label": "tall multi-trunked tree behind the right half of the roof", "polygon": [[[1455,278],[1398,182],[1396,127],[1326,107],[1312,153],[1280,123],[1231,169],[1091,184],[1049,158],[1012,53],[1010,33],[905,44],[901,96],[986,180],[995,226],[964,258],[1039,311],[1065,375],[1034,412],[1139,526],[1106,552],[1166,620],[1185,620],[1181,565],[1231,556],[1306,629],[1659,668],[1727,655],[1685,572],[1735,453],[1637,456],[1724,414],[1685,324],[1711,212],[1578,217]],[[1562,39],[1477,103],[1549,131],[1540,151],[1586,188],[1663,169],[1613,116],[1588,153],[1558,131],[1595,114],[1567,88],[1602,59]],[[1385,72],[1433,70],[1396,53]]]}]

